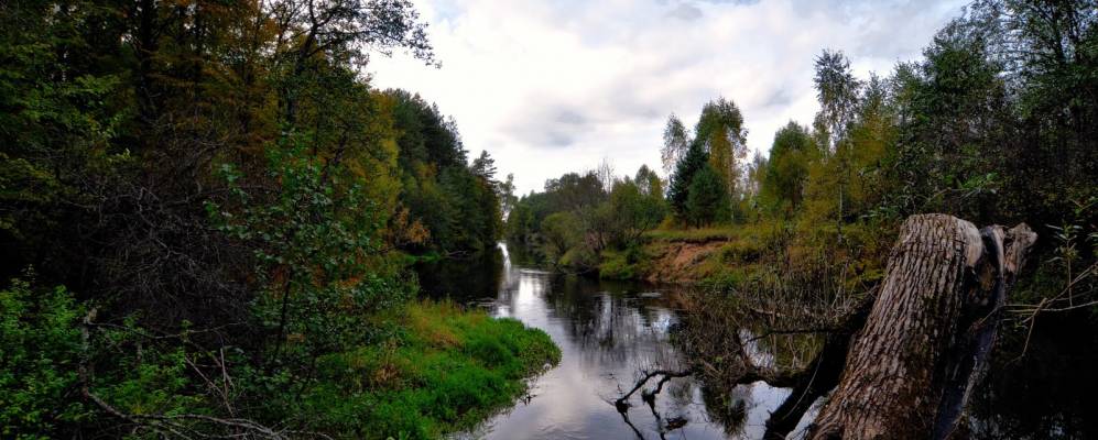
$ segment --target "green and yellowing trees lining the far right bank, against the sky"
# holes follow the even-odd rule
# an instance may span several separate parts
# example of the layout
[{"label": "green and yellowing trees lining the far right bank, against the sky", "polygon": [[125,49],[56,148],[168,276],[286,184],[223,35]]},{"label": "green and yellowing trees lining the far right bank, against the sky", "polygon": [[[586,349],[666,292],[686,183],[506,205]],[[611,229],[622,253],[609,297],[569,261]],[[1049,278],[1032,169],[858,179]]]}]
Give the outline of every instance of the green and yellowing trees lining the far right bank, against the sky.
[{"label": "green and yellowing trees lining the far right bank, against the sky", "polygon": [[[1096,21],[1094,1],[979,0],[888,76],[859,78],[842,52],[825,50],[813,78],[820,110],[782,127],[765,156],[748,158],[731,100],[706,103],[693,129],[672,114],[661,151],[667,216],[637,224],[792,223],[830,228],[842,243],[851,224],[887,230],[921,212],[1025,221],[1056,238],[1037,245],[1058,262],[1043,267],[1074,261],[1065,272],[1078,274],[1098,245]],[[609,199],[597,180],[569,174],[524,196],[508,237],[553,256],[628,248],[584,220]]]}]

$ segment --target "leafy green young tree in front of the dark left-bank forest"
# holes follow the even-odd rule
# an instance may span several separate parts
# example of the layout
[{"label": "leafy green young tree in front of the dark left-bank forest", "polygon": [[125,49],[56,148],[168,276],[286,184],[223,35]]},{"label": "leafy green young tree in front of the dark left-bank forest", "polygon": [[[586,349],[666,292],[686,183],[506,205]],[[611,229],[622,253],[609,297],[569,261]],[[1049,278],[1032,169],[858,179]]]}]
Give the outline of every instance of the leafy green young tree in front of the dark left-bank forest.
[{"label": "leafy green young tree in front of the dark left-bank forest", "polygon": [[294,135],[268,154],[265,177],[279,184],[272,198],[240,189],[240,176],[225,166],[236,200],[206,208],[226,234],[252,244],[262,289],[254,318],[275,334],[273,360],[296,371],[365,343],[362,319],[405,299],[407,289],[385,276],[381,215],[358,182],[305,154]]}]

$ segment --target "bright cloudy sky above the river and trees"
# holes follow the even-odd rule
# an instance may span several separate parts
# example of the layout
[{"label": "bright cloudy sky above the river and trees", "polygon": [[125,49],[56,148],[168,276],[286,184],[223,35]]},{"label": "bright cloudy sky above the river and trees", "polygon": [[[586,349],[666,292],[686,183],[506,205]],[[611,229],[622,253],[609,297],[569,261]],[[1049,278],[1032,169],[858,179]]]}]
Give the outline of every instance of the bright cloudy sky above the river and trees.
[{"label": "bright cloudy sky above the river and trees", "polygon": [[724,96],[765,153],[789,120],[817,110],[813,57],[841,50],[860,77],[915,59],[964,0],[413,0],[439,69],[376,56],[399,87],[457,119],[520,193],[609,158],[620,174],[660,167],[667,116],[693,127]]}]

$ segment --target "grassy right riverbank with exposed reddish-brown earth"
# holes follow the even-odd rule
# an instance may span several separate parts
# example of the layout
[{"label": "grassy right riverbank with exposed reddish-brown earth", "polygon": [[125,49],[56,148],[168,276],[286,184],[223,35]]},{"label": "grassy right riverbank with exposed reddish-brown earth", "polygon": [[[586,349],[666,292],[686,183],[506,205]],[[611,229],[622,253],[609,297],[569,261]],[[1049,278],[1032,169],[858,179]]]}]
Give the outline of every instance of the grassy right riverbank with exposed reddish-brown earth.
[{"label": "grassy right riverbank with exposed reddish-brown earth", "polygon": [[779,270],[820,277],[827,274],[819,272],[838,268],[849,287],[868,286],[880,279],[891,231],[887,224],[847,224],[840,241],[834,226],[659,229],[644,233],[637,246],[604,251],[598,275],[735,290]]}]

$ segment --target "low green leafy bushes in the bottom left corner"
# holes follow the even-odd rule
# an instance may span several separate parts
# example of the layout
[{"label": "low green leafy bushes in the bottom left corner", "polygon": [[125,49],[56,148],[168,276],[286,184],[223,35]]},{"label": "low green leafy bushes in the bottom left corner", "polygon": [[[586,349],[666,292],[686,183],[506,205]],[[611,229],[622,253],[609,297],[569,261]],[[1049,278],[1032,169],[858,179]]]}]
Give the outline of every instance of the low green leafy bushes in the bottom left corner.
[{"label": "low green leafy bushes in the bottom left corner", "polygon": [[[193,350],[186,332],[155,337],[134,319],[102,326],[64,287],[39,289],[25,279],[0,292],[0,431],[6,438],[67,437],[113,420],[117,416],[83,395],[85,387],[127,415],[216,411],[189,376],[204,354]],[[202,429],[196,420],[181,420],[177,427]],[[166,432],[151,425],[132,427],[128,435]]]}]

